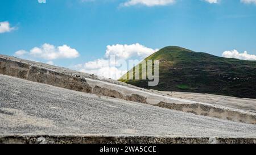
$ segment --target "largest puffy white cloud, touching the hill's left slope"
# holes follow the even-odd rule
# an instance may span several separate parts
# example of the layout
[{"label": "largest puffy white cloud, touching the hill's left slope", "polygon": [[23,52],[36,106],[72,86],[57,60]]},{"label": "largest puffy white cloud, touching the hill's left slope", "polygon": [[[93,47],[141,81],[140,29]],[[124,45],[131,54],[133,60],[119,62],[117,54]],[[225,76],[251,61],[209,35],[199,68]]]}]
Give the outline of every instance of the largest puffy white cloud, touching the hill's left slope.
[{"label": "largest puffy white cloud, touching the hill's left slope", "polygon": [[[105,78],[118,79],[128,70],[127,66],[121,65],[122,62],[127,62],[130,58],[141,60],[156,51],[158,49],[147,48],[138,43],[131,45],[108,45],[104,58],[75,65],[74,69]],[[112,58],[113,56],[114,58]]]}]

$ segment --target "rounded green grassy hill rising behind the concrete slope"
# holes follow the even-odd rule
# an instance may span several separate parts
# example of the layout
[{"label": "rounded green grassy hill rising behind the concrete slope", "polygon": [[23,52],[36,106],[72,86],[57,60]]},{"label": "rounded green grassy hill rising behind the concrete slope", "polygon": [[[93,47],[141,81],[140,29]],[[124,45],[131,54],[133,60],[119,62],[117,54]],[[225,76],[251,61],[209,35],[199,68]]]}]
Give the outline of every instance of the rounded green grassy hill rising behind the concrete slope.
[{"label": "rounded green grassy hill rising behind the concrete slope", "polygon": [[119,81],[161,91],[256,98],[256,61],[217,57],[180,47],[160,49],[145,60],[159,60],[158,86],[149,87],[147,80]]}]

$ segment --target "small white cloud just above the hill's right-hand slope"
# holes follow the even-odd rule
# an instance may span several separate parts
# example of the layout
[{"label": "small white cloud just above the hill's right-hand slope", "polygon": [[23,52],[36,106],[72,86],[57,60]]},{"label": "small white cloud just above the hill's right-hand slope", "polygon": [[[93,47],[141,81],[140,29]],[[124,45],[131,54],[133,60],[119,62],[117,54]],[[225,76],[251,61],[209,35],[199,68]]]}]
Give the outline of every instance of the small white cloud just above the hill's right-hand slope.
[{"label": "small white cloud just above the hill's right-hand slope", "polygon": [[223,57],[238,58],[241,60],[256,60],[256,55],[249,55],[246,51],[239,53],[236,49],[233,51],[225,51],[222,53]]}]

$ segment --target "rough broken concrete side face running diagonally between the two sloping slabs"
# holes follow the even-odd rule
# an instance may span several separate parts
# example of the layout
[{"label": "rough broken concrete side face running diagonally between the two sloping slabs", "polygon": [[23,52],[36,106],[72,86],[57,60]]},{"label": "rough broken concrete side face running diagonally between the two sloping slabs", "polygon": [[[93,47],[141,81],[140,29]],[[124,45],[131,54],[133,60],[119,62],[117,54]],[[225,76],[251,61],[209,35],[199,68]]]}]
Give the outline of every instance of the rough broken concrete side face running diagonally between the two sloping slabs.
[{"label": "rough broken concrete side face running diagonally between the two sloping slabs", "polygon": [[[196,115],[232,120],[234,122],[256,124],[256,115],[251,114],[250,112],[236,111],[225,107],[214,107],[210,104],[197,102],[176,104],[172,103],[174,100],[171,98],[159,94],[150,94],[142,90],[134,90],[135,92],[133,92],[133,90],[130,90],[131,88],[125,88],[125,86],[118,86],[113,83],[60,73],[53,69],[28,64],[23,61],[11,60],[11,58],[8,59],[7,57],[0,57],[0,73],[85,93],[147,103],[163,108],[170,108],[172,110],[192,112]],[[122,87],[123,92],[117,91],[117,87]],[[150,98],[154,98],[154,102],[148,103]]]}]

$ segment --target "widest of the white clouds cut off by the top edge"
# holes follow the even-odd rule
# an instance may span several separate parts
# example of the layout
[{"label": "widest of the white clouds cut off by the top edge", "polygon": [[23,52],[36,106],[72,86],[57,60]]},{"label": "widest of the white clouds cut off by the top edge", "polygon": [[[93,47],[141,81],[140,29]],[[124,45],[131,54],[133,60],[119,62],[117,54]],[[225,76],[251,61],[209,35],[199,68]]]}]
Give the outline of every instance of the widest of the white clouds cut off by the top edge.
[{"label": "widest of the white clouds cut off by the top edge", "polygon": [[164,6],[174,3],[175,0],[129,0],[122,3],[122,6],[146,5],[146,6]]}]

